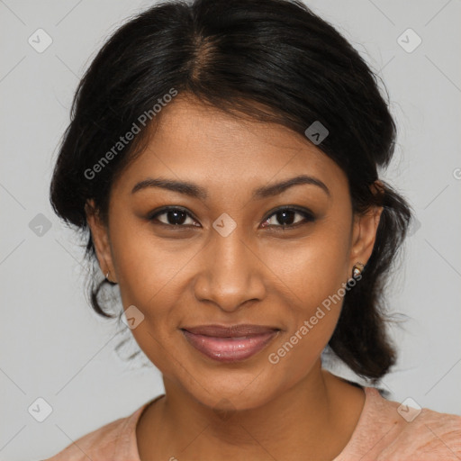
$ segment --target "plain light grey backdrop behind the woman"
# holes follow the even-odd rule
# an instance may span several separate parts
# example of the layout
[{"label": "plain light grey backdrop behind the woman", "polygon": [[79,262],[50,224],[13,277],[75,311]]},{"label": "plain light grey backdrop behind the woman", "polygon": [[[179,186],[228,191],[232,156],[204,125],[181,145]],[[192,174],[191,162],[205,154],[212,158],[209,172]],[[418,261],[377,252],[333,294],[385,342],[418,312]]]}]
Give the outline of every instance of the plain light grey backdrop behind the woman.
[{"label": "plain light grey backdrop behind the woman", "polygon": [[[0,280],[0,459],[41,459],[163,393],[156,368],[127,366],[114,352],[114,322],[86,303],[76,235],[53,214],[49,185],[71,98],[95,52],[120,23],[152,2],[0,0],[2,239]],[[461,30],[459,0],[315,0],[314,12],[339,28],[383,77],[399,126],[384,173],[418,224],[393,282],[400,360],[384,378],[393,400],[461,414]],[[38,53],[28,38],[52,38]],[[411,53],[397,41],[411,28]],[[414,43],[414,36],[403,41]],[[30,221],[43,213],[39,237]],[[134,344],[134,346],[136,346]],[[346,370],[338,374],[348,375]],[[28,408],[53,411],[43,422]]]}]

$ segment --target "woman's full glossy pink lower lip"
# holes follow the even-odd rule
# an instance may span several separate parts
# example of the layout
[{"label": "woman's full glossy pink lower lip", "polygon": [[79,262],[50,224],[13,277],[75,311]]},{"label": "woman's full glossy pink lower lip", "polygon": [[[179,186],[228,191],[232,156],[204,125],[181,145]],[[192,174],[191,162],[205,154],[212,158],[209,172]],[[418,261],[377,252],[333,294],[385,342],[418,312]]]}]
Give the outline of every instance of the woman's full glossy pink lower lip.
[{"label": "woman's full glossy pink lower lip", "polygon": [[278,330],[240,338],[216,338],[182,330],[185,339],[205,356],[219,362],[237,362],[254,356],[276,337]]}]

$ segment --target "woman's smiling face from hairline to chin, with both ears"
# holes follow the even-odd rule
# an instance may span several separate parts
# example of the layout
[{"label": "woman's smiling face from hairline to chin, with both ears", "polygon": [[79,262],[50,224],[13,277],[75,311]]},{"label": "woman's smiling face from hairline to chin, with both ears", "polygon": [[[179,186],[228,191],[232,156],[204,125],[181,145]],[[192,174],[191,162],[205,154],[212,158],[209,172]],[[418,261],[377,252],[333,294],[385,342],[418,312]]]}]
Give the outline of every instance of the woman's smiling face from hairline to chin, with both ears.
[{"label": "woman's smiling face from hairline to chin, with both ears", "polygon": [[[180,98],[163,111],[148,148],[113,185],[108,230],[89,217],[99,262],[124,309],[135,306],[132,334],[167,382],[210,407],[227,399],[255,408],[319,364],[379,212],[354,219],[347,176],[284,127]],[[297,176],[312,179],[280,186]],[[187,185],[146,183],[160,178]],[[239,356],[247,339],[220,359],[184,332],[212,324],[276,332],[250,357]],[[230,341],[239,342],[210,347],[219,356]]]}]

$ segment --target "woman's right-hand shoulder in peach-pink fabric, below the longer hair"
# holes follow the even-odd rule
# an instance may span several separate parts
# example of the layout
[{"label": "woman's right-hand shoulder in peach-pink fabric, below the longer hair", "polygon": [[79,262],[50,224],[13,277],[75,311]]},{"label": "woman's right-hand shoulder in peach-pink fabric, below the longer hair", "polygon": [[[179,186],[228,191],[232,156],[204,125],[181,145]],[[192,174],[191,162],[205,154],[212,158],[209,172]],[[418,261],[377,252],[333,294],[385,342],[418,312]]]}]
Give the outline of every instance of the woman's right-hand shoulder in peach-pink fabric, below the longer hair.
[{"label": "woman's right-hand shoulder in peach-pink fabric, below the longer hair", "polygon": [[365,392],[357,427],[335,461],[461,459],[461,416],[388,401],[372,387]]}]

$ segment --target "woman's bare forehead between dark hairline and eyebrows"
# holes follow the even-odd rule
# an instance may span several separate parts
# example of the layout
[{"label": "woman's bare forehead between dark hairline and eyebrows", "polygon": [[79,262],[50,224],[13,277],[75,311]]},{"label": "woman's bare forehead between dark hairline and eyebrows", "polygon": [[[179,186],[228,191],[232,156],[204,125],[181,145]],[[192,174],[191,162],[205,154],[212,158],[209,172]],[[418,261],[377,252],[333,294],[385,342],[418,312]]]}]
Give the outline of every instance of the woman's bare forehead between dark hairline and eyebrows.
[{"label": "woman's bare forehead between dark hairline and eyebrows", "polygon": [[122,172],[124,192],[148,176],[227,192],[300,174],[316,176],[330,189],[347,186],[342,170],[321,149],[276,123],[235,117],[178,96],[153,128],[146,148]]}]

